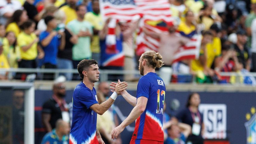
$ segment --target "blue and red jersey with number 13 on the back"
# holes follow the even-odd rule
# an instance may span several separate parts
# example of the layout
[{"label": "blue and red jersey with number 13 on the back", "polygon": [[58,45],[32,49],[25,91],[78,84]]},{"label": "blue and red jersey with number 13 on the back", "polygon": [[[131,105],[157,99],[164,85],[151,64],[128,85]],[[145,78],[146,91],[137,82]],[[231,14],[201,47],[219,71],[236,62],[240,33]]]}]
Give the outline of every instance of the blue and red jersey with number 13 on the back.
[{"label": "blue and red jersey with number 13 on the back", "polygon": [[156,73],[149,72],[141,77],[137,86],[137,99],[147,97],[145,111],[135,122],[132,139],[164,141],[163,109],[165,85]]}]

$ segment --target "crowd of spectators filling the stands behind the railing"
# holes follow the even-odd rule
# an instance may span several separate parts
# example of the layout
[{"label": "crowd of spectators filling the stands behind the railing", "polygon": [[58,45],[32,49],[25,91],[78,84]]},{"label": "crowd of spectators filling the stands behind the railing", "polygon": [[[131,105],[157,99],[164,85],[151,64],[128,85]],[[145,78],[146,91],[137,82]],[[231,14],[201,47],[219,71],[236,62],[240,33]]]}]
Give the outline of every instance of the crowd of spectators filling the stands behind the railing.
[{"label": "crowd of spectators filling the stands behind the railing", "polygon": [[[175,20],[161,24],[168,28],[169,37],[161,39],[159,34],[144,29],[146,35],[161,39],[159,52],[163,60],[168,57],[168,49],[202,34],[198,59],[182,59],[172,64],[165,61],[165,66],[172,66],[173,82],[191,82],[193,75],[198,83],[256,84],[255,78],[248,76],[249,72],[256,72],[256,1],[169,3]],[[98,0],[1,0],[0,15],[0,68],[76,69],[79,61],[95,59],[101,69],[137,69],[138,21],[118,22],[115,46],[108,48],[110,19],[103,20]],[[110,57],[114,57],[111,62]],[[219,72],[238,72],[240,78],[221,77]],[[65,76],[67,80],[76,79],[72,73]],[[7,72],[1,72],[0,78],[7,79]],[[13,78],[24,80],[26,74],[16,73]],[[43,78],[52,80],[53,74],[44,74]],[[117,78],[134,79],[133,75]]]}]

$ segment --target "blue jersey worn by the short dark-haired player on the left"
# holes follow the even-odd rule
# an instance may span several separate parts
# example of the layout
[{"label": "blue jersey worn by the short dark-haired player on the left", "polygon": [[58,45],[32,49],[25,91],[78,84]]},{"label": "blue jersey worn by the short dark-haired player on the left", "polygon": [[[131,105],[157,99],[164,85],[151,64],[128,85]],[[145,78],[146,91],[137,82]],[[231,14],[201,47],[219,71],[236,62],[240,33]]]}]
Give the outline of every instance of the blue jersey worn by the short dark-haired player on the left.
[{"label": "blue jersey worn by the short dark-haired player on the left", "polygon": [[98,103],[96,90],[90,90],[83,82],[73,93],[73,117],[70,130],[70,144],[98,144],[96,138],[97,113],[90,106]]}]

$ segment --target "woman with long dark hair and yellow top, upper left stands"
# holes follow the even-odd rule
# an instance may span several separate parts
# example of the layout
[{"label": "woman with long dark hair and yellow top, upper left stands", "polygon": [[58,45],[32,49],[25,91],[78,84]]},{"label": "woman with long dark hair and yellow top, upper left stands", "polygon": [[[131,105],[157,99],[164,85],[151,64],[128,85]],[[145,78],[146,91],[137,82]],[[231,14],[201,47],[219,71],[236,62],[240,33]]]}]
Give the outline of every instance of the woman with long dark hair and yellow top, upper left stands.
[{"label": "woman with long dark hair and yellow top, upper left stands", "polygon": [[6,32],[13,31],[17,37],[21,32],[19,26],[21,26],[27,20],[28,16],[26,10],[16,10],[7,23]]}]

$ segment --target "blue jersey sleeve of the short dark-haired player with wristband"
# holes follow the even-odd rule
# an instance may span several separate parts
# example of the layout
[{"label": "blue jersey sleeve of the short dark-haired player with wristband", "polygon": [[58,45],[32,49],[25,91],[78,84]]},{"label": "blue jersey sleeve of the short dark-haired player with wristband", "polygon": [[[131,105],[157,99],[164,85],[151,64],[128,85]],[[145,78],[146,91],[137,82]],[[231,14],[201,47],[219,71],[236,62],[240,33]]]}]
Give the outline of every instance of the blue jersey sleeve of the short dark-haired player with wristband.
[{"label": "blue jersey sleeve of the short dark-haired player with wristband", "polygon": [[78,101],[89,109],[93,104],[98,103],[89,90],[81,90],[78,93]]}]

